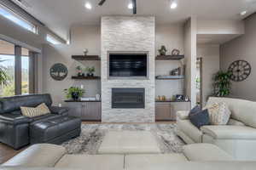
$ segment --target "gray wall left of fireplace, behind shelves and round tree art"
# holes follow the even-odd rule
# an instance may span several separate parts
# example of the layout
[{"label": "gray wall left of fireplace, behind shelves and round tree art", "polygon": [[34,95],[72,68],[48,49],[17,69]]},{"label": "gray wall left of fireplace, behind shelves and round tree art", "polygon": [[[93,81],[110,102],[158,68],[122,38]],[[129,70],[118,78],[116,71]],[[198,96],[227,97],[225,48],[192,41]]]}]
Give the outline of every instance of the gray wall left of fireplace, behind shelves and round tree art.
[{"label": "gray wall left of fireplace, behind shelves and round tree art", "polygon": [[[89,49],[89,54],[100,54],[101,52],[101,34],[99,26],[76,26],[72,28],[72,42],[70,45],[44,45],[43,73],[44,93],[52,95],[54,104],[64,104],[65,94],[63,89],[71,86],[84,85],[86,89],[85,96],[95,96],[101,93],[100,81],[74,81],[71,79],[76,74],[75,67],[78,65],[86,67],[86,65],[96,66],[96,75],[101,74],[101,64],[98,61],[79,62],[71,59],[72,55],[83,54],[84,48]],[[49,76],[49,68],[55,63],[67,65],[68,76],[64,81],[58,82]]]}]

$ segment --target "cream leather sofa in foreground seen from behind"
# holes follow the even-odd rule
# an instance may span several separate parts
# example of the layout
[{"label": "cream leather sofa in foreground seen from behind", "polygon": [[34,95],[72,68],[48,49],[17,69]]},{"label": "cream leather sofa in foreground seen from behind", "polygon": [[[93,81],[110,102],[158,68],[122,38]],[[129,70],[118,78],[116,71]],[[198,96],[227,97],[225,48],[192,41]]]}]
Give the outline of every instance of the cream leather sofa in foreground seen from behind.
[{"label": "cream leather sofa in foreground seen from behind", "polygon": [[255,161],[234,161],[213,144],[189,144],[183,154],[68,155],[55,144],[35,144],[0,170],[253,170]]}]

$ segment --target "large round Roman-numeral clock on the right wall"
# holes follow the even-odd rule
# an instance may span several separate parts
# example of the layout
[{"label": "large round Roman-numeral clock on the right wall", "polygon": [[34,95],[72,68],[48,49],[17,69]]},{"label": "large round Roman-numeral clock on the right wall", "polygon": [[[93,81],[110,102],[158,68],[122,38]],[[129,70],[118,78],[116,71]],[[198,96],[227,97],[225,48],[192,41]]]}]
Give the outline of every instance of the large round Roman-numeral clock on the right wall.
[{"label": "large round Roman-numeral clock on the right wall", "polygon": [[236,60],[231,63],[229,71],[231,72],[230,79],[232,81],[241,82],[250,76],[252,68],[245,60]]}]

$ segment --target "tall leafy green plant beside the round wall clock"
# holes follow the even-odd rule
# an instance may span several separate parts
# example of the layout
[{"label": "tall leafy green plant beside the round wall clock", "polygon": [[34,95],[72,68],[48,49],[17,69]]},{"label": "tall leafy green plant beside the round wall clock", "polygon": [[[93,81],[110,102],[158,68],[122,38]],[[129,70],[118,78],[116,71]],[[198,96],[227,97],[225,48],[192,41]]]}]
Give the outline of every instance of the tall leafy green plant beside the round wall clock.
[{"label": "tall leafy green plant beside the round wall clock", "polygon": [[213,77],[213,95],[216,97],[225,97],[230,95],[231,81],[230,71],[218,71]]}]

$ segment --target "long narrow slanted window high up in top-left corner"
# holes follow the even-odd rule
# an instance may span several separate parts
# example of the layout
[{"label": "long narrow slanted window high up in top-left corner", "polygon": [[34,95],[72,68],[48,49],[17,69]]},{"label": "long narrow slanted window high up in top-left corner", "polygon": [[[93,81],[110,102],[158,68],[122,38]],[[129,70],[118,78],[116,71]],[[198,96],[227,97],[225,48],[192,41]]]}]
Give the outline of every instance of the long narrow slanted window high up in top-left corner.
[{"label": "long narrow slanted window high up in top-left corner", "polygon": [[12,21],[12,22],[14,22],[16,25],[20,26],[21,28],[23,28],[23,29],[25,29],[25,30],[27,30],[27,31],[31,31],[31,32],[33,32],[34,34],[38,34],[38,26],[32,24],[32,22],[30,22],[30,21],[24,19],[22,16],[20,16],[19,14],[16,14],[14,11],[12,11],[11,9],[9,9],[9,8],[7,8],[7,7],[5,7],[5,6],[3,6],[2,4],[0,4],[0,8],[2,8],[6,13],[11,14],[13,17],[15,17],[16,20],[20,20],[20,21],[26,23],[26,25],[31,26],[32,29],[28,29],[28,28],[26,28],[25,26],[22,26],[22,25],[19,24],[18,22],[15,22],[15,20],[9,19],[9,17],[7,17],[6,15],[0,14],[1,16],[3,16],[4,18],[6,18],[6,19],[8,19],[8,20],[10,20],[10,21]]}]

